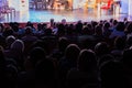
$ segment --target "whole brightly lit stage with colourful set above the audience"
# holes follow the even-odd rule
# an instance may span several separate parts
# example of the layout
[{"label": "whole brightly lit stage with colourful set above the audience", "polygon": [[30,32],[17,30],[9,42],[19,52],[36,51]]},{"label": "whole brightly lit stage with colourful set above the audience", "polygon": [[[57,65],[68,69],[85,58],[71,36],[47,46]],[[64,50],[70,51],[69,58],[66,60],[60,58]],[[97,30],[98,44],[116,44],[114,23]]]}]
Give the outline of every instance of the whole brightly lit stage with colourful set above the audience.
[{"label": "whole brightly lit stage with colourful set above the audience", "polygon": [[[4,1],[4,2],[3,2]],[[109,1],[109,0],[108,0]],[[112,0],[111,0],[112,1]],[[114,0],[113,0],[114,1]],[[0,22],[48,22],[51,18],[61,22],[118,19],[123,20],[132,14],[132,0],[121,0],[121,7],[111,3],[110,9],[102,10],[106,0],[0,0]],[[114,7],[116,6],[116,7]],[[10,11],[9,11],[10,10]],[[9,11],[9,12],[8,12]],[[14,13],[15,12],[15,13]],[[131,19],[131,16],[129,16]]]}]

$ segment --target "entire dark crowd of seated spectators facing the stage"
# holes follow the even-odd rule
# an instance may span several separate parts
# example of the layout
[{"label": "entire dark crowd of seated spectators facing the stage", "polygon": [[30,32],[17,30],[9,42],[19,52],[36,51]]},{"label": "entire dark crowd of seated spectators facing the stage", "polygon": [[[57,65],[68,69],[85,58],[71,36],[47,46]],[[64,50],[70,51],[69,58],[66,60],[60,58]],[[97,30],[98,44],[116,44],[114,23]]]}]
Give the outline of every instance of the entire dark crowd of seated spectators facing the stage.
[{"label": "entire dark crowd of seated spectators facing the stage", "polygon": [[132,88],[132,22],[0,23],[0,88]]}]

